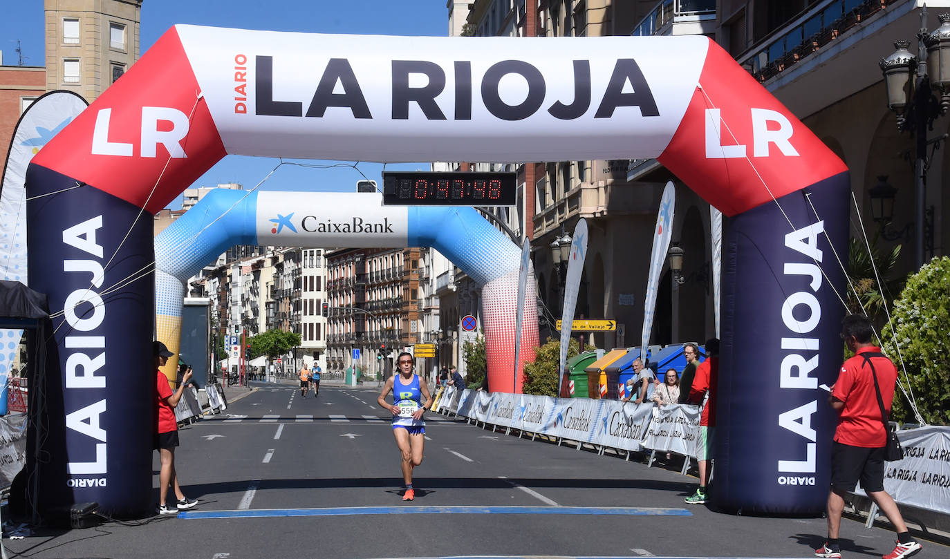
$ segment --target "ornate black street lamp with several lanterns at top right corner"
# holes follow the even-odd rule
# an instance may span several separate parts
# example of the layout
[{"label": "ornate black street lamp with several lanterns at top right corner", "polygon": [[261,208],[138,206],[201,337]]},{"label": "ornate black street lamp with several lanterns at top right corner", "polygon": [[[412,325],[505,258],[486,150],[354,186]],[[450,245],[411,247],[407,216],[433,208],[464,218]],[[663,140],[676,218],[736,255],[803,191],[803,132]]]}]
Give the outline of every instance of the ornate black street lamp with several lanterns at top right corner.
[{"label": "ornate black street lamp with several lanterns at top right corner", "polygon": [[[917,269],[923,266],[925,251],[933,254],[933,226],[927,221],[926,209],[927,169],[931,160],[927,157],[927,144],[934,143],[936,151],[940,141],[946,138],[943,135],[928,141],[927,131],[932,130],[934,121],[950,108],[950,14],[940,14],[940,28],[931,34],[927,34],[926,25],[927,8],[924,6],[921,9],[921,31],[917,35],[918,55],[907,50],[909,41],[895,41],[897,50],[879,63],[887,89],[887,107],[897,114],[898,129],[910,132],[915,139],[914,263]],[[927,73],[928,65],[930,74]],[[940,102],[934,91],[940,93]],[[879,199],[883,201],[883,197]]]}]

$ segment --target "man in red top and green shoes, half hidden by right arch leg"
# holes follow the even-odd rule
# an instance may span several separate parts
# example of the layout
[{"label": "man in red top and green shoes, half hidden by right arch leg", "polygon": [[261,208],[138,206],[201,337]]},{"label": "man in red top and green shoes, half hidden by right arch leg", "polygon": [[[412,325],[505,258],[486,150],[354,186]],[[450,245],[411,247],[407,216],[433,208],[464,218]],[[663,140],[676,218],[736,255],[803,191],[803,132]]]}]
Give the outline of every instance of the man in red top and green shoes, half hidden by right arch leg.
[{"label": "man in red top and green shoes, half hidden by right arch leg", "polygon": [[719,382],[719,340],[706,341],[706,361],[696,367],[693,385],[690,388],[689,403],[702,404],[706,394],[709,400],[699,416],[699,432],[696,437],[696,461],[699,468],[699,487],[696,493],[684,499],[691,505],[706,502],[706,483],[709,481],[709,461],[712,458],[712,432],[715,427],[715,395]]}]

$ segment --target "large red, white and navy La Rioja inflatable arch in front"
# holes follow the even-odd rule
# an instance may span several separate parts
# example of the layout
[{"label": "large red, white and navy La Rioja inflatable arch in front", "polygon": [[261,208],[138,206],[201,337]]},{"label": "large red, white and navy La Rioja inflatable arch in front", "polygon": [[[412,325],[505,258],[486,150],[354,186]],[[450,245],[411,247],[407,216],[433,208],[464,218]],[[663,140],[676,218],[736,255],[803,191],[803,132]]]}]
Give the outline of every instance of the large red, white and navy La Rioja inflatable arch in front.
[{"label": "large red, white and navy La Rioja inflatable arch in front", "polygon": [[[824,510],[845,164],[708,38],[179,26],[33,158],[30,288],[59,310],[36,503],[152,506],[152,213],[226,154],[657,158],[731,217],[715,503]],[[250,217],[249,217],[250,218]],[[35,281],[34,281],[35,278]],[[34,456],[35,457],[35,456]]]}]

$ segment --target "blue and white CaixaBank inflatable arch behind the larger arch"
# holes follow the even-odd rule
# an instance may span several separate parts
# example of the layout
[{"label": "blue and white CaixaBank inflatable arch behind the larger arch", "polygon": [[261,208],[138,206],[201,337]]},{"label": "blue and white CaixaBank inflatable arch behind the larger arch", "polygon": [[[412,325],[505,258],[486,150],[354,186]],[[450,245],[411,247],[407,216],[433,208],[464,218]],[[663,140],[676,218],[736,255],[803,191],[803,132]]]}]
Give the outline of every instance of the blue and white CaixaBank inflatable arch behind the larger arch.
[{"label": "blue and white CaixaBank inflatable arch behind the larger arch", "polygon": [[[214,190],[155,238],[158,338],[178,353],[184,282],[236,244],[279,247],[430,247],[483,286],[488,382],[511,389],[521,249],[472,208],[383,206],[379,194]],[[284,226],[279,221],[284,220]],[[529,270],[529,273],[530,270]],[[533,273],[532,273],[533,276]],[[536,307],[528,281],[524,307]],[[522,352],[533,360],[538,317],[525,313]],[[163,371],[174,379],[176,367]],[[522,367],[517,382],[522,384]]]}]

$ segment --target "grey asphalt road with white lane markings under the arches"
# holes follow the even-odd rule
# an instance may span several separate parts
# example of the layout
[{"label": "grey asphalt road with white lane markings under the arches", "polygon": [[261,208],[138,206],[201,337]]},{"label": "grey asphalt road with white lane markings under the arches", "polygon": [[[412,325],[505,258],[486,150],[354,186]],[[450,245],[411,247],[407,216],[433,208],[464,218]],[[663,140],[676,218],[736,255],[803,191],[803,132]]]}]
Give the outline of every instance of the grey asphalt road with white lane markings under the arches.
[{"label": "grey asphalt road with white lane markings under the arches", "polygon": [[[324,386],[306,399],[261,386],[180,433],[185,494],[199,506],[142,525],[40,531],[10,557],[340,559],[460,556],[810,557],[825,520],[758,518],[683,503],[678,468],[428,414],[416,498],[376,389]],[[159,462],[154,461],[158,487]],[[676,470],[676,471],[674,471]],[[158,500],[158,490],[153,492]],[[893,533],[845,519],[845,557],[880,557]],[[917,557],[947,557],[925,543]]]}]

